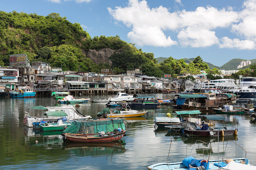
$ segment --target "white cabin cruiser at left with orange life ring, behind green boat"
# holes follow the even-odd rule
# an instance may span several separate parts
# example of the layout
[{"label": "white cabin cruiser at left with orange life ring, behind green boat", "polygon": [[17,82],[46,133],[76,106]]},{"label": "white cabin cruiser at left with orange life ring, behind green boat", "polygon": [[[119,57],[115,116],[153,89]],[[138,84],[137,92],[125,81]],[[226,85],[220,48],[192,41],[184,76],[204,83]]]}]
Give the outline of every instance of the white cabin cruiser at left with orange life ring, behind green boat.
[{"label": "white cabin cruiser at left with orange life ring, behind green boat", "polygon": [[[67,116],[30,116],[30,109],[36,109],[36,110],[47,110],[48,112],[55,112],[55,113],[62,113],[64,112]],[[23,123],[25,126],[33,127],[33,123],[41,122],[41,121],[54,121],[57,119],[63,119],[66,117],[66,120],[84,120],[84,119],[90,119],[92,118],[90,115],[83,115],[81,112],[76,110],[72,105],[66,105],[66,106],[54,106],[54,107],[43,107],[43,106],[34,106],[29,107],[29,112],[25,111],[25,116]],[[43,123],[43,122],[42,122]]]}]

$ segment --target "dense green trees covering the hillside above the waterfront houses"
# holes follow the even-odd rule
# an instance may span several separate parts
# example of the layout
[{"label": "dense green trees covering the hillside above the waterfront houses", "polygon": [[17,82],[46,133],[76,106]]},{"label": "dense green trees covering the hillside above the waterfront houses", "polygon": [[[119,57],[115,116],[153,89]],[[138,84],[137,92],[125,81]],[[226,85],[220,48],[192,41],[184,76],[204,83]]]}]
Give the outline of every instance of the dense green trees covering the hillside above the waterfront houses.
[{"label": "dense green trees covering the hillside above the waterfront houses", "polygon": [[[109,57],[112,66],[106,63],[97,65],[86,57],[89,49],[103,48],[118,50]],[[215,75],[220,69],[204,62],[200,56],[180,60],[160,57],[162,62],[157,62],[153,53],[143,52],[135,44],[122,41],[118,35],[91,38],[80,24],[72,24],[58,13],[39,16],[0,11],[0,65],[9,65],[9,55],[22,53],[28,55],[30,62],[48,62],[52,67],[72,71],[100,72],[102,68],[112,68],[119,73],[141,67],[148,76],[171,74],[176,77],[180,73],[201,73],[202,70]]]}]

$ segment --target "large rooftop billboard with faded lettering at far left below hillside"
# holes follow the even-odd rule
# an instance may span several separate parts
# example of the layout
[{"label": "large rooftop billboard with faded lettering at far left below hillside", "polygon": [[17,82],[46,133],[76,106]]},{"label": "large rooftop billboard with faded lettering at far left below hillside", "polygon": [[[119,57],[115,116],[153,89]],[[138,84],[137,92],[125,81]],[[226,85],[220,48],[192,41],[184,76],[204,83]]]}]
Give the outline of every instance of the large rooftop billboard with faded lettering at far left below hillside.
[{"label": "large rooftop billboard with faded lettering at far left below hillside", "polygon": [[29,60],[27,54],[10,55],[10,66],[28,66]]}]

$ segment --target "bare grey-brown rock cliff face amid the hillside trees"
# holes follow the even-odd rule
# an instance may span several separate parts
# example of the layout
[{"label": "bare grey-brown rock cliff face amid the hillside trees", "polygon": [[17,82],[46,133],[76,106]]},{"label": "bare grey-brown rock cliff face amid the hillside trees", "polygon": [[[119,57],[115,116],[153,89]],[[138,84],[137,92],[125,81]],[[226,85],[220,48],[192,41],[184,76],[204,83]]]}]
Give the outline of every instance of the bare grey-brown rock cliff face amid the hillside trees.
[{"label": "bare grey-brown rock cliff face amid the hillside trees", "polygon": [[96,64],[107,63],[112,66],[112,62],[108,59],[114,52],[121,53],[123,50],[113,50],[110,48],[103,48],[100,50],[89,49],[86,53],[86,57],[91,58]]}]

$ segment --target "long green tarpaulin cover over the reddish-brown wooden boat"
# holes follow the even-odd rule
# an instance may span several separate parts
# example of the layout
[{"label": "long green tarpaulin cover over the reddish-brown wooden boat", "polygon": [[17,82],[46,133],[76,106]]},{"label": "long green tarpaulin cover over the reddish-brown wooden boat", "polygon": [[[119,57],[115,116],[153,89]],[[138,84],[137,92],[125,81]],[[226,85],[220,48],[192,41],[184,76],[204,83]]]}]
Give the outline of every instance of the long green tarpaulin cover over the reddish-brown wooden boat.
[{"label": "long green tarpaulin cover over the reddish-brown wooden boat", "polygon": [[106,119],[100,121],[74,121],[65,129],[64,133],[87,134],[98,133],[100,131],[113,132],[114,129],[121,128],[125,130],[122,119]]}]

